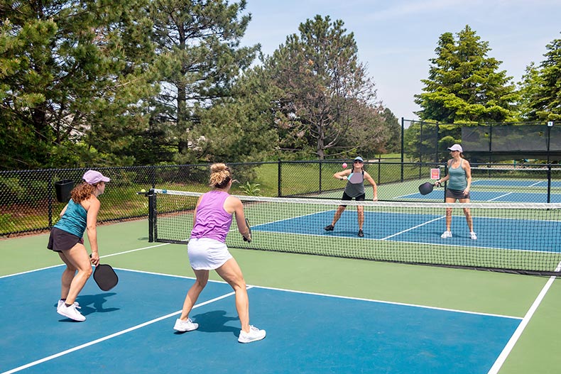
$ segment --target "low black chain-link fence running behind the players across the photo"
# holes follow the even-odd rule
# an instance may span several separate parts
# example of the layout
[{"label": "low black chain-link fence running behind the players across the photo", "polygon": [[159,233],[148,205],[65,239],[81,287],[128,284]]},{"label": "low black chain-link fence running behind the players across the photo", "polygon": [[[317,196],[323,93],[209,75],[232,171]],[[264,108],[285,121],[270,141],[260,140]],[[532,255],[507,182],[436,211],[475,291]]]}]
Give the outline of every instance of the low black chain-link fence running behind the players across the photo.
[{"label": "low black chain-link fence running behind the players across the photo", "polygon": [[[352,161],[346,160],[351,164]],[[343,170],[344,160],[278,161],[229,164],[234,178],[232,194],[264,197],[339,199],[345,183],[333,177]],[[472,192],[486,192],[472,201],[561,202],[561,169],[552,165],[472,164]],[[418,185],[430,181],[437,169],[446,174],[445,163],[398,163],[365,160],[364,169],[378,185],[378,199],[385,201],[443,201],[443,190],[421,199]],[[70,180],[77,185],[87,169],[0,171],[0,236],[50,229],[65,206],[56,199],[55,183]],[[99,167],[111,178],[99,198],[99,223],[146,218],[148,199],[142,189],[174,189],[206,192],[209,165]],[[366,198],[372,189],[366,187]],[[426,198],[426,197],[425,197]],[[504,200],[501,200],[504,199]],[[191,207],[192,208],[192,207]],[[182,207],[185,209],[185,207]]]}]

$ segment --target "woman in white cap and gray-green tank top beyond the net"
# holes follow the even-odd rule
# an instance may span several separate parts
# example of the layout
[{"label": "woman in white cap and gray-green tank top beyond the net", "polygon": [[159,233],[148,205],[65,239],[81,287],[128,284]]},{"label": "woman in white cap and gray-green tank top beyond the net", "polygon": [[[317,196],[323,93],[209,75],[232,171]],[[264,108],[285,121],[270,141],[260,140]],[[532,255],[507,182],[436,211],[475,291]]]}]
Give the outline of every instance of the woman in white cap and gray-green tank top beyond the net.
[{"label": "woman in white cap and gray-green tank top beyond the net", "polygon": [[[472,187],[472,167],[469,161],[463,156],[462,145],[454,144],[448,148],[452,159],[448,161],[448,174],[436,181],[436,185],[449,180],[446,189],[446,202],[468,203],[469,189]],[[477,234],[474,232],[474,222],[472,213],[469,208],[464,208],[464,215],[466,216],[467,227],[469,228],[469,238],[472,240],[477,239]],[[441,238],[452,238],[452,208],[446,209],[446,231],[442,233]]]}]

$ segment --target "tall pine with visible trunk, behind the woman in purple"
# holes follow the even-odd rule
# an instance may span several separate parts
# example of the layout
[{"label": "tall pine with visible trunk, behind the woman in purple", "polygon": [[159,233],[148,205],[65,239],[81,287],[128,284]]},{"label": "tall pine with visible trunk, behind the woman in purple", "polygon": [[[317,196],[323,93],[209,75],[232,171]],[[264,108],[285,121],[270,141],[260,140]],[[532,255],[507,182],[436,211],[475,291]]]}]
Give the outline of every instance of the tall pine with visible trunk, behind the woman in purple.
[{"label": "tall pine with visible trunk, behind the woman in purple", "polygon": [[258,45],[239,48],[251,20],[241,15],[245,7],[245,0],[234,4],[153,0],[151,4],[161,84],[160,94],[151,103],[151,126],[172,134],[169,141],[180,163],[207,157],[200,146],[203,139],[193,129],[204,109],[232,96],[236,77],[254,60]]}]

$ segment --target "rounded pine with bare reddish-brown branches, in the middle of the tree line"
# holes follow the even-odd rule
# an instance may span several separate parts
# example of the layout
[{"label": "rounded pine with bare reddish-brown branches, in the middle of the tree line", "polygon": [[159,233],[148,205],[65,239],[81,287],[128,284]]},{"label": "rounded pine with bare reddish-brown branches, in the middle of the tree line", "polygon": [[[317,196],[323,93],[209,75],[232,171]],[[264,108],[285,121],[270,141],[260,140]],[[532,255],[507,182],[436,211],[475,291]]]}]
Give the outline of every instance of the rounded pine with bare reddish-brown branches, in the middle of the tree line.
[{"label": "rounded pine with bare reddish-brown branches, in the middle of the tree line", "polygon": [[[381,107],[374,84],[358,60],[353,33],[340,20],[315,16],[301,23],[266,61],[271,85],[280,89],[276,126],[280,148],[315,153],[369,146],[381,137]],[[356,143],[349,145],[349,139]]]}]

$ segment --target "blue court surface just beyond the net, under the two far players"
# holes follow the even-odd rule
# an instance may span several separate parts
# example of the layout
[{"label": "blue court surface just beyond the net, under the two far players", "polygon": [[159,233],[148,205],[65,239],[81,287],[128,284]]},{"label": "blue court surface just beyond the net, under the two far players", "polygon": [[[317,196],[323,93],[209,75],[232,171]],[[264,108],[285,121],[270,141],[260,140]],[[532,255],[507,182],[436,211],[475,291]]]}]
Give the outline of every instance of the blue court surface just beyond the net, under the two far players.
[{"label": "blue court surface just beyond the net, under the two far players", "polygon": [[[477,241],[469,238],[469,230],[461,206],[452,217],[454,237],[445,241],[440,234],[445,230],[445,216],[435,214],[402,214],[364,211],[365,240],[401,241],[425,243],[435,246],[470,246],[477,248],[501,248],[518,251],[558,252],[554,241],[548,241],[549,233],[561,231],[560,221],[528,219],[499,219],[474,216]],[[252,226],[253,231],[294,233],[311,236],[338,236],[356,238],[356,210],[347,209],[337,222],[334,231],[325,231],[333,211],[322,211],[292,219]],[[546,240],[543,240],[546,238]]]}]

